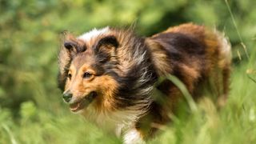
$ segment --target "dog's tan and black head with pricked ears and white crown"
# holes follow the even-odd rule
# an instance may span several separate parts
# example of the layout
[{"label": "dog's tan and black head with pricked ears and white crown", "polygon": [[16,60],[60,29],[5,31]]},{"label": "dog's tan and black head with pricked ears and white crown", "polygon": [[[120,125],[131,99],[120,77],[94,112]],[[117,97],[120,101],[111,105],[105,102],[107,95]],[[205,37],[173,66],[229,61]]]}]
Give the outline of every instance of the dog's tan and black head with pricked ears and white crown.
[{"label": "dog's tan and black head with pricked ears and white crown", "polygon": [[[91,32],[93,33],[93,32]],[[86,106],[113,109],[117,82],[109,73],[116,62],[117,39],[110,34],[85,34],[74,38],[67,34],[59,53],[59,87],[70,110]],[[94,37],[94,38],[92,38]]]}]

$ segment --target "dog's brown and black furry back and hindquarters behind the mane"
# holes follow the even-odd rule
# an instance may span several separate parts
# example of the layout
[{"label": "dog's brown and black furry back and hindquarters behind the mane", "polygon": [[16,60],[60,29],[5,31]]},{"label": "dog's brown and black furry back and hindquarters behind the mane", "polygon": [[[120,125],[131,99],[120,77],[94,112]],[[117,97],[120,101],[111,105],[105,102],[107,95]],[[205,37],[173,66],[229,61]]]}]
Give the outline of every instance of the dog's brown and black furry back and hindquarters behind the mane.
[{"label": "dog's brown and black furry back and hindquarters behind the mane", "polygon": [[202,89],[226,97],[230,44],[223,34],[189,23],[155,34],[147,42],[159,75],[178,77],[194,97],[202,95]]}]

